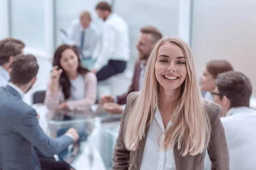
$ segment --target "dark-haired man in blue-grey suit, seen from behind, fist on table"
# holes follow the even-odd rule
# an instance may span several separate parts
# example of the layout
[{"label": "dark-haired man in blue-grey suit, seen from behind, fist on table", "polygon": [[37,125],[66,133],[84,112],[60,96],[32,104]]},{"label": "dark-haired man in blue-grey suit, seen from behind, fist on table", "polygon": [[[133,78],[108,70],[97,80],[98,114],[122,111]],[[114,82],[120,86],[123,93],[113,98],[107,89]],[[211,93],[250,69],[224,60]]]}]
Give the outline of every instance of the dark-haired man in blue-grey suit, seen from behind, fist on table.
[{"label": "dark-haired man in blue-grey suit, seen from behind, fist on table", "polygon": [[0,88],[0,170],[40,170],[34,148],[52,157],[79,139],[74,128],[50,139],[39,126],[36,111],[23,102],[23,95],[36,81],[38,68],[32,55],[15,57],[9,70],[11,80]]}]

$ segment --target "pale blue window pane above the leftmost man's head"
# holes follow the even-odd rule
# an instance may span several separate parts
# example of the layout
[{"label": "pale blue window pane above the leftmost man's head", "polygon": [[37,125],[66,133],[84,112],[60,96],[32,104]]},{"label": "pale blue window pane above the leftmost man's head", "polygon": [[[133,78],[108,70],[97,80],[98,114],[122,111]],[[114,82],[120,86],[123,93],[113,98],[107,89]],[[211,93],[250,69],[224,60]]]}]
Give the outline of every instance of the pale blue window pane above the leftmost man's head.
[{"label": "pale blue window pane above the leftmost man's head", "polygon": [[44,2],[26,0],[25,6],[22,0],[10,0],[9,3],[10,35],[26,40],[27,46],[44,49]]}]

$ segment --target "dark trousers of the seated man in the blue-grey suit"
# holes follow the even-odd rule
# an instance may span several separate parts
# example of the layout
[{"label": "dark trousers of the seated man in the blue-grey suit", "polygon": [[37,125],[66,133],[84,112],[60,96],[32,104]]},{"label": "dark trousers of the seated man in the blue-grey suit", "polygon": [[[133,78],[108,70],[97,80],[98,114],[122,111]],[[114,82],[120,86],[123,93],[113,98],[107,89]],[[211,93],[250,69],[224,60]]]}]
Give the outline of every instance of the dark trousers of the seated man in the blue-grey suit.
[{"label": "dark trousers of the seated man in the blue-grey suit", "polygon": [[63,161],[55,161],[54,158],[39,158],[41,170],[70,170],[70,166]]}]

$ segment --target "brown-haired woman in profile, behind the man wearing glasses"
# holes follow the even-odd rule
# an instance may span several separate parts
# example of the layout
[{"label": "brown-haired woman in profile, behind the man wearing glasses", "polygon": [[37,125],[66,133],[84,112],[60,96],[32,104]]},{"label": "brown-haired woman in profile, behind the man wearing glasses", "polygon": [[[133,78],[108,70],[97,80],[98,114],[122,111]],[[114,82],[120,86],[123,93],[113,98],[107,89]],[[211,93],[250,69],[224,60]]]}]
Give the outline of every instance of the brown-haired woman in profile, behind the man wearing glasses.
[{"label": "brown-haired woman in profile, behind the man wearing glasses", "polygon": [[204,72],[200,77],[200,88],[204,93],[204,99],[213,102],[211,92],[215,89],[215,80],[218,74],[233,71],[233,67],[227,60],[211,60],[207,62]]}]

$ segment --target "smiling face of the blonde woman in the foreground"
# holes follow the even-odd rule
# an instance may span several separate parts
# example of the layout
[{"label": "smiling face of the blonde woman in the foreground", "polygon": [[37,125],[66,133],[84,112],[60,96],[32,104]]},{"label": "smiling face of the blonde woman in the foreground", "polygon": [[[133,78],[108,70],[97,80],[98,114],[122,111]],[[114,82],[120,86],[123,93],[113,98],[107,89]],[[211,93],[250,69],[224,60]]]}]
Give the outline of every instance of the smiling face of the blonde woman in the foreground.
[{"label": "smiling face of the blonde woman in the foreground", "polygon": [[167,90],[180,88],[187,69],[186,59],[181,48],[173,43],[164,43],[157,52],[155,74],[160,86]]}]

